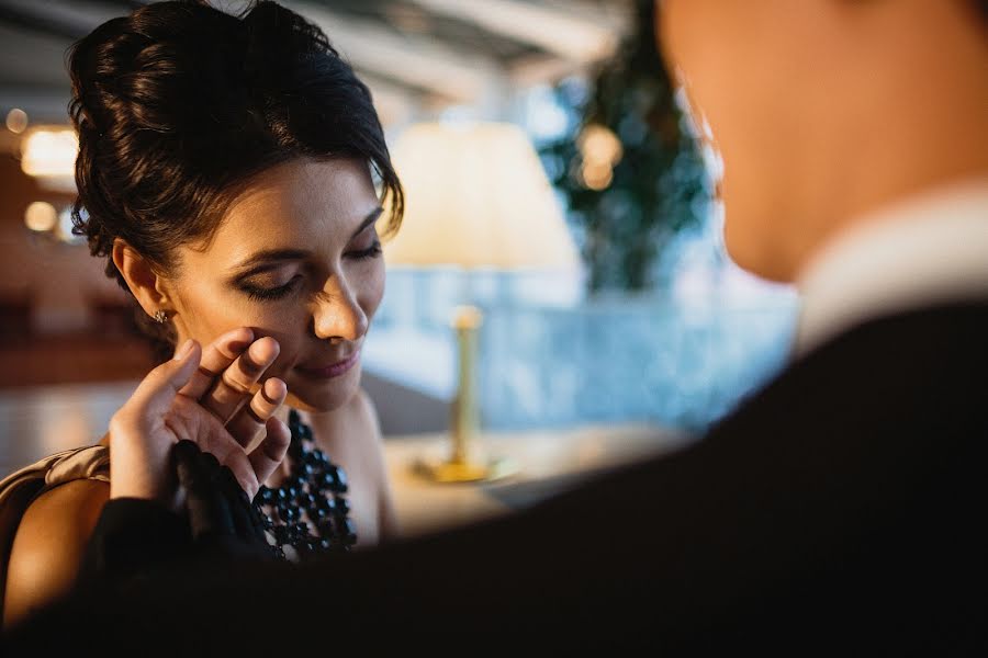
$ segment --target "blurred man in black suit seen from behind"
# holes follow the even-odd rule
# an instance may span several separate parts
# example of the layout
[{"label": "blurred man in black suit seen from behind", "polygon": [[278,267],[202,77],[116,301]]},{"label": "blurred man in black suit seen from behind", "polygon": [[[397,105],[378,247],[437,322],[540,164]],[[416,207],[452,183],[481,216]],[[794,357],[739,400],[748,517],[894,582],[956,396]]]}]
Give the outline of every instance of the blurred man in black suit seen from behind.
[{"label": "blurred man in black suit seen from behind", "polygon": [[167,654],[465,633],[482,650],[984,650],[988,8],[659,10],[723,159],[731,256],[801,287],[788,370],[691,449],[515,518],[299,569],[151,574],[11,645],[96,625]]}]

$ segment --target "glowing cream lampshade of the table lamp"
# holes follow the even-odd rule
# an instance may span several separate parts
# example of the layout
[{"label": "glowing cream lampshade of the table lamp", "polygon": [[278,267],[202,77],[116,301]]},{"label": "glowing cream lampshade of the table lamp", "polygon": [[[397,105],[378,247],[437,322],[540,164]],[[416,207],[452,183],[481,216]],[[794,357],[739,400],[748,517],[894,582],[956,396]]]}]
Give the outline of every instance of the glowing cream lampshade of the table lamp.
[{"label": "glowing cream lampshade of the table lamp", "polygon": [[405,188],[389,264],[570,269],[573,237],[525,133],[496,123],[418,124],[392,149]]}]

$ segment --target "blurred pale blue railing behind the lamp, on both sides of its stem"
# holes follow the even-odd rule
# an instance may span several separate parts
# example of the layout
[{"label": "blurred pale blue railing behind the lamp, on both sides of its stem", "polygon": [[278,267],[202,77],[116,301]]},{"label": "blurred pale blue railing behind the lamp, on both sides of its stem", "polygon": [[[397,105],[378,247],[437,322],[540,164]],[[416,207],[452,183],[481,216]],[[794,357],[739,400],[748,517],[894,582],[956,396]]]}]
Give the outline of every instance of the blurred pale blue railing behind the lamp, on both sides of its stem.
[{"label": "blurred pale blue railing behind the lamp, on both sides of its stem", "polygon": [[538,292],[538,282],[510,275],[469,284],[451,273],[389,276],[366,368],[451,399],[447,318],[469,291],[485,311],[478,377],[491,430],[652,422],[700,431],[782,367],[797,313],[790,294],[587,302],[565,288],[552,299],[551,282]]}]

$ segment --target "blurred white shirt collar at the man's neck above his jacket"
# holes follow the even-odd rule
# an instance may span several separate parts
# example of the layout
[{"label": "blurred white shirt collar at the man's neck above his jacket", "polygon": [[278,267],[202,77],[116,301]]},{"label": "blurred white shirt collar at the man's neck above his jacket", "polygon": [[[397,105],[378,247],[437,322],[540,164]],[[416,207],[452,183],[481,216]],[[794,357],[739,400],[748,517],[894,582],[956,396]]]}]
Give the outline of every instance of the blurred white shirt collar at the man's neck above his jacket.
[{"label": "blurred white shirt collar at the man's neck above his jacket", "polygon": [[797,282],[796,353],[865,320],[938,302],[988,298],[988,178],[873,213]]}]

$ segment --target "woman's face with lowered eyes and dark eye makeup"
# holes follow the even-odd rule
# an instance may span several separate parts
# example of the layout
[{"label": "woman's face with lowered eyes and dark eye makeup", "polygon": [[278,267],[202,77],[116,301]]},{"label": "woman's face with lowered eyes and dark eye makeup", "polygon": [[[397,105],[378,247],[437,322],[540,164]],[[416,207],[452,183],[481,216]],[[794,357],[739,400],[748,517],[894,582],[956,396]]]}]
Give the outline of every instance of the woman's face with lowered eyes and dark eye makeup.
[{"label": "woman's face with lowered eyes and dark eye makeup", "polygon": [[288,404],[329,411],[357,392],[360,349],[384,294],[381,214],[366,164],[297,159],[266,171],[168,280],[179,343],[237,327],[274,338],[266,376]]}]

